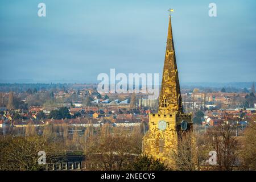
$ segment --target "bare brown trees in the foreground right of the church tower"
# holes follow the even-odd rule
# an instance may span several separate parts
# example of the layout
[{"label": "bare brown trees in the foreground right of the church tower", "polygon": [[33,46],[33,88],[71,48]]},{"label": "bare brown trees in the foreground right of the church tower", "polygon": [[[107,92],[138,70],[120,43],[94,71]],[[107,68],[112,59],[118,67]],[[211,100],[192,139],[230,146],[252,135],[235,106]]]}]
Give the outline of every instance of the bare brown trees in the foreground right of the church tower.
[{"label": "bare brown trees in the foreground right of the church tower", "polygon": [[[236,136],[234,126],[214,126],[204,135],[187,133],[174,151],[176,170],[256,170],[256,123],[250,122],[244,137]],[[216,158],[209,163],[211,152]]]}]

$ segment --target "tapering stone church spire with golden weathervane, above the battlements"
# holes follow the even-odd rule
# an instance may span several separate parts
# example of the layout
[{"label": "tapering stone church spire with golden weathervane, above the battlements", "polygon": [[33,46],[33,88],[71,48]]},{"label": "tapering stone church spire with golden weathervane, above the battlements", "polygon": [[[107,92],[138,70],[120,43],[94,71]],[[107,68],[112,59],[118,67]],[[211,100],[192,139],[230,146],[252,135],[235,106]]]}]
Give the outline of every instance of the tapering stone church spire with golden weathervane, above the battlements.
[{"label": "tapering stone church spire with golden weathervane, above the battlements", "polygon": [[170,15],[158,112],[169,114],[174,111],[182,113],[183,107],[181,102],[180,84]]}]

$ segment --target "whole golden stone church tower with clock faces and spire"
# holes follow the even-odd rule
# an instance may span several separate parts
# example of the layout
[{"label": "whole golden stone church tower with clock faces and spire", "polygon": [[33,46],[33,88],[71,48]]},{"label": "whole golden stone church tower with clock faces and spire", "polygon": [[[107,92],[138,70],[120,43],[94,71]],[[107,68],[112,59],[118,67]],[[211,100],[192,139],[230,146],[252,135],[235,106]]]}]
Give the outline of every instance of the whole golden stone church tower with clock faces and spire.
[{"label": "whole golden stone church tower with clock faces and spire", "polygon": [[173,159],[179,138],[192,129],[192,113],[183,113],[179,76],[177,71],[171,16],[167,36],[162,85],[157,114],[149,115],[149,130],[143,137],[143,153],[160,159],[175,168]]}]

